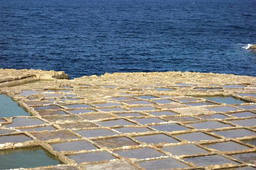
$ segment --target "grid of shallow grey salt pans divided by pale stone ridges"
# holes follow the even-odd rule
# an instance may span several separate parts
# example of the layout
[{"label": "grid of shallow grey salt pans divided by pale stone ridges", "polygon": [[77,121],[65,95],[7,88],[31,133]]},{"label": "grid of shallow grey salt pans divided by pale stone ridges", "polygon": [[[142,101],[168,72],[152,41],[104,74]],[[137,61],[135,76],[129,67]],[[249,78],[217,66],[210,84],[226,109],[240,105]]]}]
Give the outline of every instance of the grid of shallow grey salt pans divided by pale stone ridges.
[{"label": "grid of shallow grey salt pans divided by pale stone ridges", "polygon": [[255,167],[256,105],[204,97],[135,94],[83,102],[72,88],[32,93],[19,101],[32,116],[0,119],[0,152],[40,146],[84,169],[110,162],[134,170]]}]

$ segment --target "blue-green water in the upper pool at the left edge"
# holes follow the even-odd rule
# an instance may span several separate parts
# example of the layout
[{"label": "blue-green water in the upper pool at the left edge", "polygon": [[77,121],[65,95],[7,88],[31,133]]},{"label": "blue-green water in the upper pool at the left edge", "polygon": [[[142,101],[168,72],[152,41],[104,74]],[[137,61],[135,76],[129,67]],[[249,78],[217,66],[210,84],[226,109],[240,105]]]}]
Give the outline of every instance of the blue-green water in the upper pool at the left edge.
[{"label": "blue-green water in the upper pool at the left edge", "polygon": [[0,118],[13,116],[30,116],[22,107],[20,107],[11,97],[6,94],[0,94]]}]

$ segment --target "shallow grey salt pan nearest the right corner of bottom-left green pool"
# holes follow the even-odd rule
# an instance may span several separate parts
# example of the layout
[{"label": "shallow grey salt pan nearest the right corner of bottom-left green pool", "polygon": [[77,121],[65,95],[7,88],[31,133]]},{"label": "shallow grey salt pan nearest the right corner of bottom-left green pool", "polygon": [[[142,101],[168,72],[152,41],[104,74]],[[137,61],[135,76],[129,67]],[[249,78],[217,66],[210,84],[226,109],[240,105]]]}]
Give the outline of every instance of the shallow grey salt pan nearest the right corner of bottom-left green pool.
[{"label": "shallow grey salt pan nearest the right corner of bottom-left green pool", "polygon": [[90,152],[80,153],[76,155],[67,156],[69,159],[73,159],[76,163],[81,164],[82,162],[96,162],[96,161],[109,161],[116,159],[113,155],[108,152]]}]

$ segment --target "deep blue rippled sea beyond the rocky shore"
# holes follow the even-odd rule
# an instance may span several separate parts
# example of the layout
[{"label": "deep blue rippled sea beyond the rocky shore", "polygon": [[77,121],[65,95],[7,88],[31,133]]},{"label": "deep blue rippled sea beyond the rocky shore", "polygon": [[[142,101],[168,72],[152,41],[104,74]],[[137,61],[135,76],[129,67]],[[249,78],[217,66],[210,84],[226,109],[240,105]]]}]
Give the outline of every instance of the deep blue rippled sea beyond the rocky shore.
[{"label": "deep blue rippled sea beyond the rocky shore", "polygon": [[256,0],[0,0],[0,68],[256,76]]}]

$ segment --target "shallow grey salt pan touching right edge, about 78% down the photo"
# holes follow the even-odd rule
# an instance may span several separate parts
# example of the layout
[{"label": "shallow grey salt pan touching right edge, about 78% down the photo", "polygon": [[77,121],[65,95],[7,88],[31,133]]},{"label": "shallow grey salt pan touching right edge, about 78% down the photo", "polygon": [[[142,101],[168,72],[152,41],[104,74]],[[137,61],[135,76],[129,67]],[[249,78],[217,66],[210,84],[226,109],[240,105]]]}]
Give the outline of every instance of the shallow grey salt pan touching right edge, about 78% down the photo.
[{"label": "shallow grey salt pan touching right edge, about 78% down the photo", "polygon": [[241,138],[245,136],[256,136],[256,133],[246,129],[221,130],[213,132],[226,138]]}]

